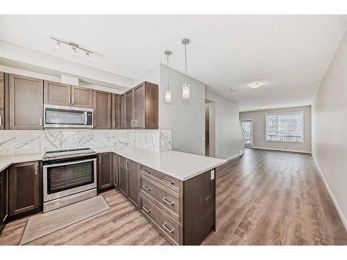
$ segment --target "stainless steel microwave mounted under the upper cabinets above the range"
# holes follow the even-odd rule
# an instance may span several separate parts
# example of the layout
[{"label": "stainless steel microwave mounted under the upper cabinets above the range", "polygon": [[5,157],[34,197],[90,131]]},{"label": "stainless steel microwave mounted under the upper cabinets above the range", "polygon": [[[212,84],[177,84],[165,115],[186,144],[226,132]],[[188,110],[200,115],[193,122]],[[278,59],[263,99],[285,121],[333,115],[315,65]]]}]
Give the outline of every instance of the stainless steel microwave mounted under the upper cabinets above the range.
[{"label": "stainless steel microwave mounted under the upper cabinets above the range", "polygon": [[44,104],[44,128],[93,128],[93,109]]}]

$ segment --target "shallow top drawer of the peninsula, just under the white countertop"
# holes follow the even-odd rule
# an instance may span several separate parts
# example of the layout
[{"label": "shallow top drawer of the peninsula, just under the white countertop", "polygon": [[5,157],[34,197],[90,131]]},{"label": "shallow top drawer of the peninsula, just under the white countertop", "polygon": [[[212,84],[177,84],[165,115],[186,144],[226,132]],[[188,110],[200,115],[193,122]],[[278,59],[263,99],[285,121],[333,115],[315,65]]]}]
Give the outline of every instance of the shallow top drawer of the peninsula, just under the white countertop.
[{"label": "shallow top drawer of the peninsula, just under the white countertop", "polygon": [[168,187],[169,189],[183,194],[183,182],[181,180],[161,173],[160,171],[155,171],[153,170],[153,168],[149,168],[144,165],[140,166],[140,173],[146,175],[147,177],[150,177],[153,180],[156,180],[160,184],[163,184],[164,186]]}]

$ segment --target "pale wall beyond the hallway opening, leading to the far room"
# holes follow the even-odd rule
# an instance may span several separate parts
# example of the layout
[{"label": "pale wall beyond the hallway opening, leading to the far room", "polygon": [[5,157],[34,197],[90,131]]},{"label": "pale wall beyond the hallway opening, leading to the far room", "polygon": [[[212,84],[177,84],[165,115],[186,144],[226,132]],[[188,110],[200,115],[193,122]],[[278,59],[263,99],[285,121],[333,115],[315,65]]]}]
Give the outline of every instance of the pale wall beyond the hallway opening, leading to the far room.
[{"label": "pale wall beyond the hallway opening, leading to the far room", "polygon": [[217,158],[231,159],[244,150],[244,137],[239,125],[239,104],[214,94],[206,88],[205,98],[214,107],[214,145]]}]

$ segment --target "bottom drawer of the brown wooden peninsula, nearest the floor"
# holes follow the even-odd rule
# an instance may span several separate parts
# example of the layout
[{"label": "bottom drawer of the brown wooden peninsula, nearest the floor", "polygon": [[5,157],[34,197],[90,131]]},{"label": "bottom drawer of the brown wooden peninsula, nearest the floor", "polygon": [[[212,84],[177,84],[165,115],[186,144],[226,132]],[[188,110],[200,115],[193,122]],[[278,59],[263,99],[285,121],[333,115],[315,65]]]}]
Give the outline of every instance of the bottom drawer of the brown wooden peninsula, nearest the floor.
[{"label": "bottom drawer of the brown wooden peninsula, nearest the floor", "polygon": [[167,237],[171,243],[182,245],[183,243],[183,227],[177,223],[173,218],[167,215],[159,207],[155,206],[153,202],[139,195],[140,208],[144,216],[149,218],[151,223],[160,230],[160,232]]}]

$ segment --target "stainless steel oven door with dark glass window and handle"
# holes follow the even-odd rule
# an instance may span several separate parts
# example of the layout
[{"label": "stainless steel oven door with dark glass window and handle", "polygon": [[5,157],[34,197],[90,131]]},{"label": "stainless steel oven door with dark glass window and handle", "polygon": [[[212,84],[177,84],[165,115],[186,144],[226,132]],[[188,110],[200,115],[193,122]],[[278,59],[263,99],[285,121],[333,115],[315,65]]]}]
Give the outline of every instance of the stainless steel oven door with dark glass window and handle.
[{"label": "stainless steel oven door with dark glass window and handle", "polygon": [[96,188],[96,158],[43,166],[44,202]]}]

